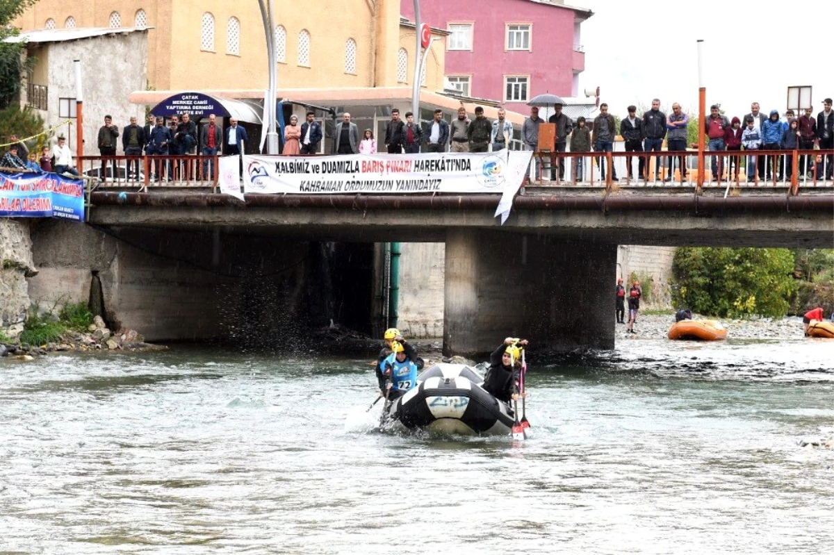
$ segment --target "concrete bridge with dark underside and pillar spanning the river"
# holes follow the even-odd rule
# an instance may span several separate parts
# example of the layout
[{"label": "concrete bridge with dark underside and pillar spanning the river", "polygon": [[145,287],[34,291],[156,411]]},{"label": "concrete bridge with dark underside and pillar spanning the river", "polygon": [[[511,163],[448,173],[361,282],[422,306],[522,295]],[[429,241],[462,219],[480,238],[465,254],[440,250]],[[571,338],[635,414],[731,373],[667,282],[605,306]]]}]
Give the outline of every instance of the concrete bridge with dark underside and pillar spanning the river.
[{"label": "concrete bridge with dark underside and pillar spanning the river", "polygon": [[[508,333],[564,351],[613,347],[618,244],[834,245],[834,194],[826,188],[728,198],[717,189],[530,189],[503,226],[493,218],[493,195],[247,195],[243,203],[211,193],[99,191],[89,226],[54,222],[33,232],[46,276],[33,288],[74,280],[83,290],[92,271],[113,313],[149,338],[203,338],[230,312],[235,321],[267,318],[278,328],[303,318],[298,303],[287,302],[302,290],[306,310],[315,310],[309,264],[292,266],[309,262],[312,244],[445,243],[447,353],[485,353]],[[158,260],[166,256],[193,264]],[[261,287],[264,276],[278,278]],[[356,288],[345,280],[341,287]],[[218,288],[228,298],[217,298]]]}]

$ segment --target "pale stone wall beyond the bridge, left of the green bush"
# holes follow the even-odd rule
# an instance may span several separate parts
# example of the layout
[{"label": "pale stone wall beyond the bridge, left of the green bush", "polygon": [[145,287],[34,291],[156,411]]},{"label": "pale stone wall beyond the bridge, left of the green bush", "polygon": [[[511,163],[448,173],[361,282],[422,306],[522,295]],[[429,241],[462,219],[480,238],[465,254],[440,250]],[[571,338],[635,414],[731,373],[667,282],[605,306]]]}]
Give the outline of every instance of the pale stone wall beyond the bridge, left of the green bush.
[{"label": "pale stone wall beyond the bridge, left of the green bush", "polygon": [[[650,247],[647,245],[620,245],[617,248],[617,277],[627,284],[631,274],[651,276],[651,294],[649,302],[641,303],[641,308],[668,309],[671,307],[670,283],[672,278],[672,259],[675,247]],[[644,278],[645,282],[645,278]],[[646,283],[641,283],[644,291]],[[611,290],[613,291],[613,287]]]}]

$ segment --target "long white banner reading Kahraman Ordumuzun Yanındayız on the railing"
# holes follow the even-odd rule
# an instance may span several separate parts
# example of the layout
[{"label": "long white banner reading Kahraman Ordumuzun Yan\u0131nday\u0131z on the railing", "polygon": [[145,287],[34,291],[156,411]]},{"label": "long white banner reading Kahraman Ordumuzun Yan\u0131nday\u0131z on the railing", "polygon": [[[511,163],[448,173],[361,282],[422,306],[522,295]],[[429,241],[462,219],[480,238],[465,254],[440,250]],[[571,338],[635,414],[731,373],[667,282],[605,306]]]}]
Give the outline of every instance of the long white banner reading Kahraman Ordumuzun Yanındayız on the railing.
[{"label": "long white banner reading Kahraman Ordumuzun Yan\u0131nday\u0131z on the railing", "polygon": [[[530,153],[512,153],[525,156]],[[515,160],[514,160],[515,162]],[[321,157],[244,155],[245,193],[510,194],[525,169],[497,153],[348,154]],[[511,191],[511,193],[510,193]]]}]

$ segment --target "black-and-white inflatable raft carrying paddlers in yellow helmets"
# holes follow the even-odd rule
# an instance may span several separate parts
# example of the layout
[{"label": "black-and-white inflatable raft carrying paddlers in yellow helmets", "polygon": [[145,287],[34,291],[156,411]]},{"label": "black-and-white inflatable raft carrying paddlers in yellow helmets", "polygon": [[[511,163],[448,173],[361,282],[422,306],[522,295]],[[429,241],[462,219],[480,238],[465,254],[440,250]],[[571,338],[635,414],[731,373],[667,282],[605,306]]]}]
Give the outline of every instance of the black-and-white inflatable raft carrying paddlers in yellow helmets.
[{"label": "black-and-white inflatable raft carrying paddlers in yellow helmets", "polygon": [[391,403],[383,428],[420,429],[461,435],[507,435],[515,418],[487,393],[484,378],[465,364],[435,364],[420,373],[417,386]]}]

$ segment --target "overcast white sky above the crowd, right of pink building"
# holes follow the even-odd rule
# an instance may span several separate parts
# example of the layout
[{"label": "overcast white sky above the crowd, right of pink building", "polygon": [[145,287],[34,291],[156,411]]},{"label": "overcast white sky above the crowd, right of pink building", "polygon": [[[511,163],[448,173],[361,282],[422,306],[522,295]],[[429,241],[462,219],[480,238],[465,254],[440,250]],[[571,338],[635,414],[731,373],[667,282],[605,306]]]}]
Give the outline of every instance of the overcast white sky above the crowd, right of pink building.
[{"label": "overcast white sky above the crowd, right of pink building", "polygon": [[[600,87],[601,102],[625,116],[629,104],[661,99],[698,107],[696,41],[704,40],[706,106],[728,116],[784,113],[787,87],[811,85],[814,113],[834,97],[834,9],[822,0],[565,0],[590,8],[582,24],[585,72],[581,89]],[[801,20],[804,23],[798,23]],[[746,61],[745,61],[746,59]]]}]

